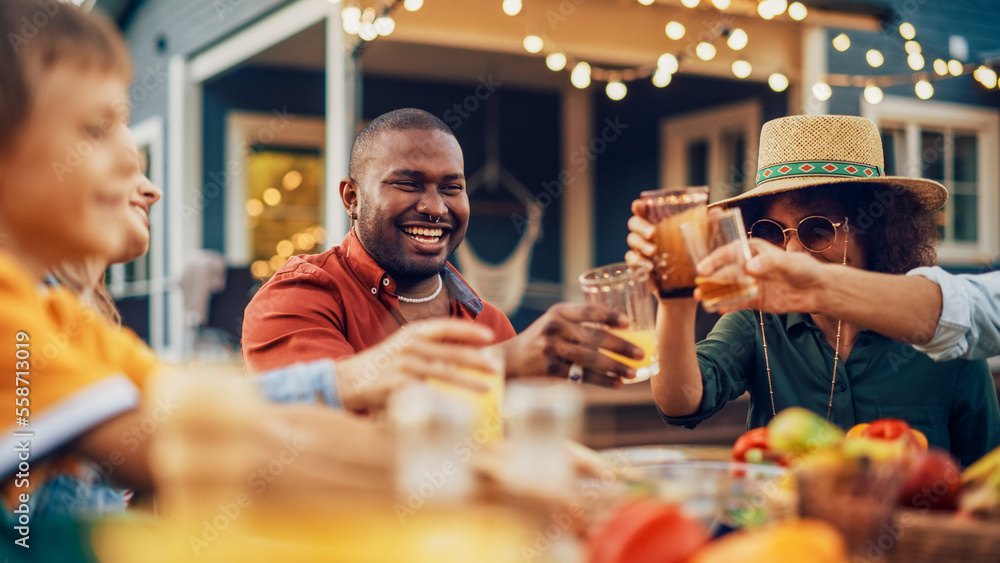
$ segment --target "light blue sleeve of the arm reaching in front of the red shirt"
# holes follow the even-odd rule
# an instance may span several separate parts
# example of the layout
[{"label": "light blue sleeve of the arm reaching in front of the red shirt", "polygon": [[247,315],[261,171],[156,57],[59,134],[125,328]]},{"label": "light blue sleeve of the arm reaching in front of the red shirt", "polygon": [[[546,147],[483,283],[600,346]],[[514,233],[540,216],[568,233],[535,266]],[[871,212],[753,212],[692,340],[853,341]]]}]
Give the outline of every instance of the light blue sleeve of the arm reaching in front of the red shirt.
[{"label": "light blue sleeve of the arm reaching in front of the red shirt", "polygon": [[341,408],[337,368],[330,360],[294,364],[254,378],[262,397],[273,403],[324,403]]}]

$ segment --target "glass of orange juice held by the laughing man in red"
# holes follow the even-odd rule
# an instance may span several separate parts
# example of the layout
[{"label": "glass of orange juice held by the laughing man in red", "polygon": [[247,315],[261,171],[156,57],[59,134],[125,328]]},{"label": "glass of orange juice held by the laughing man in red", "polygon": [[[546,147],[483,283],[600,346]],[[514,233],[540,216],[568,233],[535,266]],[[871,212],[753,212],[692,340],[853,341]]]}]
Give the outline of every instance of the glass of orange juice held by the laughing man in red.
[{"label": "glass of orange juice held by the laughing man in red", "polygon": [[636,377],[623,379],[625,383],[638,383],[655,375],[659,370],[655,356],[653,328],[656,314],[653,294],[649,292],[649,272],[630,270],[624,262],[587,270],[580,274],[580,286],[588,305],[619,313],[628,319],[628,328],[607,329],[611,334],[635,344],[645,356],[627,358],[614,352],[601,350],[609,358],[635,368]]}]

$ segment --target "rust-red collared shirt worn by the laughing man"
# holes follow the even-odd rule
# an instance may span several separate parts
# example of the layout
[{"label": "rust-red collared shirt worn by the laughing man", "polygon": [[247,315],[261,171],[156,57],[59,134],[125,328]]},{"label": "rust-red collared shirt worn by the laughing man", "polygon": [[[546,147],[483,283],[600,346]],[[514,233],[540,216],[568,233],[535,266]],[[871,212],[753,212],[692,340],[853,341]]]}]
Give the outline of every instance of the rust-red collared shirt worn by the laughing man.
[{"label": "rust-red collared shirt worn by the laughing man", "polygon": [[[497,342],[515,335],[503,312],[480,299],[450,263],[441,275],[452,318],[491,328]],[[395,292],[396,282],[365,252],[353,230],[340,246],[322,254],[294,256],[247,305],[244,365],[262,372],[336,360],[375,346],[406,324]]]}]

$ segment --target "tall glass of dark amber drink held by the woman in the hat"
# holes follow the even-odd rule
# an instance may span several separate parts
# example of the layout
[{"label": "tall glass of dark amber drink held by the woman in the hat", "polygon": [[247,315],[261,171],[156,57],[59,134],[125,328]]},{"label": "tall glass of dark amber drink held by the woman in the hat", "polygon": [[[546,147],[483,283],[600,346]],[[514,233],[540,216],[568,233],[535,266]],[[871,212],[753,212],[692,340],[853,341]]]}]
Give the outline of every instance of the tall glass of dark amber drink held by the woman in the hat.
[{"label": "tall glass of dark amber drink held by the woman in the hat", "polygon": [[656,226],[653,281],[660,297],[691,297],[694,268],[684,251],[680,226],[705,216],[708,188],[654,190],[640,197],[646,202],[646,219]]}]

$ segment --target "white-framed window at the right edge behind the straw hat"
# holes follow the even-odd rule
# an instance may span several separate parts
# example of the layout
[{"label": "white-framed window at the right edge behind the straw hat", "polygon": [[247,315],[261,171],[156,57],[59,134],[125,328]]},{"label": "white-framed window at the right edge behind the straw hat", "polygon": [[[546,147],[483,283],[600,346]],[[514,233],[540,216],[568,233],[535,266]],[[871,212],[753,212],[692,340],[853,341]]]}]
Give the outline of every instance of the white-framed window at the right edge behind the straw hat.
[{"label": "white-framed window at the right edge behind the straw hat", "polygon": [[990,264],[1000,256],[1000,116],[995,110],[886,97],[862,104],[882,131],[886,174],[928,178],[948,189],[939,215],[942,264]]}]

